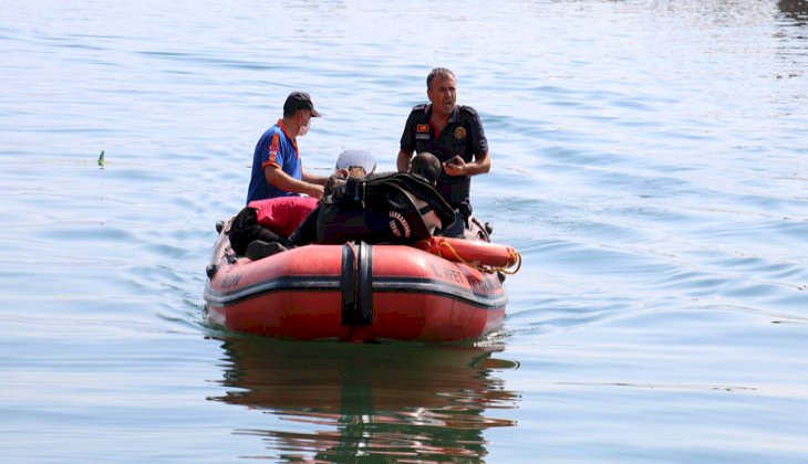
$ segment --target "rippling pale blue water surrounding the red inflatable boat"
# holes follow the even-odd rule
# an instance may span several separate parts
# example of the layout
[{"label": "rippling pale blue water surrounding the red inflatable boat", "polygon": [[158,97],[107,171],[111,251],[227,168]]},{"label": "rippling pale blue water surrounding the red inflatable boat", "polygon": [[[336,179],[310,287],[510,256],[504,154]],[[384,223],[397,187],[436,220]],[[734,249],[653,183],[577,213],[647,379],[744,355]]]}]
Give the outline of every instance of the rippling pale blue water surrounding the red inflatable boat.
[{"label": "rippling pale blue water surrounding the red inflatable boat", "polygon": [[[3,462],[808,461],[806,1],[0,3]],[[515,245],[477,346],[206,323],[289,91],[392,169],[424,77]],[[105,150],[106,165],[96,159]]]}]

